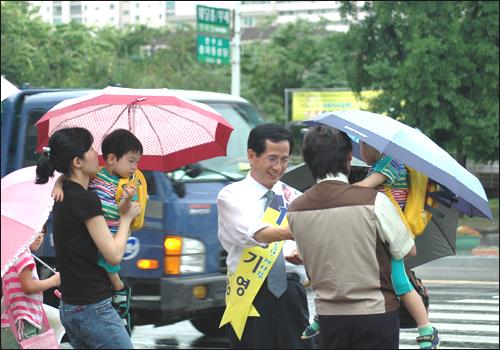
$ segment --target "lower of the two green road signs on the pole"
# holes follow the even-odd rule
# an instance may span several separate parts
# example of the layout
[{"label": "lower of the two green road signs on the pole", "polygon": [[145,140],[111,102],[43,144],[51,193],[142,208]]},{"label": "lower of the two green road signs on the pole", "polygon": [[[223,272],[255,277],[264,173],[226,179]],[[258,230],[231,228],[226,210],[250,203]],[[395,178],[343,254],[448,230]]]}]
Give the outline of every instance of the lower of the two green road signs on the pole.
[{"label": "lower of the two green road signs on the pole", "polygon": [[229,64],[229,39],[198,34],[196,40],[196,59],[198,62]]}]

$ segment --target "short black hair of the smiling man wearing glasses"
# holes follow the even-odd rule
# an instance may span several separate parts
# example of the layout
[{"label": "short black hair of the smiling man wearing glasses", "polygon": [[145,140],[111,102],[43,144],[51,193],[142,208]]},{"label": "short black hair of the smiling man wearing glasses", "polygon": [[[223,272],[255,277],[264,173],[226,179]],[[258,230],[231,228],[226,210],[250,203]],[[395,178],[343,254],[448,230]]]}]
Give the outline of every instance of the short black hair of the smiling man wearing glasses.
[{"label": "short black hair of the smiling man wearing glasses", "polygon": [[293,135],[290,130],[278,123],[267,123],[257,125],[250,131],[248,136],[248,149],[252,149],[255,154],[260,156],[266,151],[266,140],[273,143],[288,141],[290,144],[290,153],[293,151]]}]

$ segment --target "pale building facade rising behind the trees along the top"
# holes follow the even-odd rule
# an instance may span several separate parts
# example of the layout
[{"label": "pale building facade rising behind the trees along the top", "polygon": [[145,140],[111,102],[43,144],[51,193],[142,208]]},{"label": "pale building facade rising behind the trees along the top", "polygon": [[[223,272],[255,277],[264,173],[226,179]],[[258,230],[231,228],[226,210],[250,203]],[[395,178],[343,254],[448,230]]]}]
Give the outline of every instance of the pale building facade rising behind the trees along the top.
[{"label": "pale building facade rising behind the trees along the top", "polygon": [[[88,26],[145,24],[152,27],[196,24],[196,6],[233,9],[235,1],[30,1],[41,18],[51,24],[71,21]],[[358,2],[362,6],[363,2]],[[330,30],[346,31],[337,1],[241,1],[241,26],[257,28],[263,21],[273,27],[301,18],[326,19]]]}]

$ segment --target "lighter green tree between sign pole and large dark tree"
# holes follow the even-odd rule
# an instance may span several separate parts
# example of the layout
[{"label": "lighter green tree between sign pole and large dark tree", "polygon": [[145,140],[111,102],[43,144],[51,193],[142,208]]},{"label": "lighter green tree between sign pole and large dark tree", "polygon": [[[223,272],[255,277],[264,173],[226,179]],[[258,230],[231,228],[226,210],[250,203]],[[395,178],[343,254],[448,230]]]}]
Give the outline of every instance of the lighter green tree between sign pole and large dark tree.
[{"label": "lighter green tree between sign pole and large dark tree", "polygon": [[327,24],[298,20],[279,27],[268,42],[243,47],[243,94],[271,119],[285,121],[286,88],[345,86],[335,49],[341,34],[328,32]]}]

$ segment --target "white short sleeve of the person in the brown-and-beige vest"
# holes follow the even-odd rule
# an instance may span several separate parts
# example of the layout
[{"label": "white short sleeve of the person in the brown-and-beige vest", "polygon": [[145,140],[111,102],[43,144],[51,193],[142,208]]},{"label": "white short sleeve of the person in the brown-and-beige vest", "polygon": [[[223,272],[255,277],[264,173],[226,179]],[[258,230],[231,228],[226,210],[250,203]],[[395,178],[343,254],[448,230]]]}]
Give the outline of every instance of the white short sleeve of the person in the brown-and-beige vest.
[{"label": "white short sleeve of the person in the brown-and-beige vest", "polygon": [[380,239],[389,244],[392,257],[395,260],[404,258],[415,242],[394,204],[383,193],[378,193],[375,198],[375,217]]}]

